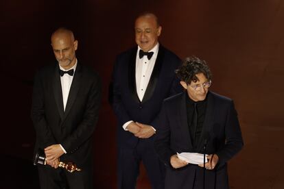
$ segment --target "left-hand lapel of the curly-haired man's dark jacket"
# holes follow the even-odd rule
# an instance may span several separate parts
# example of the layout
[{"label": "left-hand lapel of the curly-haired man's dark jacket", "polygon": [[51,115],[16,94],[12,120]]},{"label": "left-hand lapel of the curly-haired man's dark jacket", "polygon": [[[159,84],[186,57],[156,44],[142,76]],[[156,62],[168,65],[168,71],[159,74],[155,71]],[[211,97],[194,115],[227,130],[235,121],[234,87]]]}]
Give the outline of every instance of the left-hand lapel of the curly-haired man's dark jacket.
[{"label": "left-hand lapel of the curly-haired man's dark jacket", "polygon": [[189,149],[192,149],[192,143],[191,143],[191,136],[189,134],[189,126],[188,126],[188,122],[187,122],[187,104],[185,101],[185,95],[187,95],[187,92],[183,92],[181,101],[180,101],[180,108],[178,108],[179,112],[179,119],[180,120],[180,127],[182,130],[182,134],[185,138],[185,140],[187,140],[187,144]]}]

